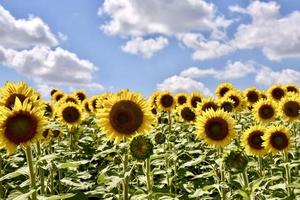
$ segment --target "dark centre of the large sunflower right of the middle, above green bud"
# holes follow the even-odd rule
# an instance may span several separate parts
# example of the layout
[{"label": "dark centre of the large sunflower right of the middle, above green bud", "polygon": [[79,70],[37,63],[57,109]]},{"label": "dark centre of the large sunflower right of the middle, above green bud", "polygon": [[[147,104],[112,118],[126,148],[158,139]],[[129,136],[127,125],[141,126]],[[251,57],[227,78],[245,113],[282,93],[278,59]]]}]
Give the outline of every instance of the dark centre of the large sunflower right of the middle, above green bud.
[{"label": "dark centre of the large sunflower right of the middle, above green bud", "polygon": [[225,139],[229,134],[227,121],[220,117],[209,119],[205,124],[205,134],[212,140]]}]

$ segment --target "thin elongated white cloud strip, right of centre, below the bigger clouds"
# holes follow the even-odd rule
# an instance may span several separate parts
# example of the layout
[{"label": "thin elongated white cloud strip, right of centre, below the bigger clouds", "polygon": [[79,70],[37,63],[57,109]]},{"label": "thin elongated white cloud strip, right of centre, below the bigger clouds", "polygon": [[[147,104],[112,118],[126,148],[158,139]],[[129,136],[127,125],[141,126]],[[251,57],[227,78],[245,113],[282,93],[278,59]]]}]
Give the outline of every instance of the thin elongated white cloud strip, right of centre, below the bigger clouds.
[{"label": "thin elongated white cloud strip, right of centre, below the bigger clouds", "polygon": [[180,73],[182,77],[201,78],[204,76],[212,76],[218,80],[238,79],[245,77],[251,73],[255,73],[255,63],[253,61],[241,62],[228,61],[227,65],[222,70],[215,68],[201,69],[197,67],[190,67]]}]

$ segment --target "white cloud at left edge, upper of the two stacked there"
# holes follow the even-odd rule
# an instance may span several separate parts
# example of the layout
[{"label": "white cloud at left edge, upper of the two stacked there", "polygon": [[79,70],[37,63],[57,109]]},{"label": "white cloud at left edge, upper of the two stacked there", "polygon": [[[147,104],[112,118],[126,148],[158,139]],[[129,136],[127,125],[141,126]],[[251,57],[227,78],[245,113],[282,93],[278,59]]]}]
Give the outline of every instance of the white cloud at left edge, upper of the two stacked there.
[{"label": "white cloud at left edge, upper of the two stacked there", "polygon": [[40,18],[15,19],[0,5],[0,44],[5,48],[30,48],[56,46],[58,41]]}]

